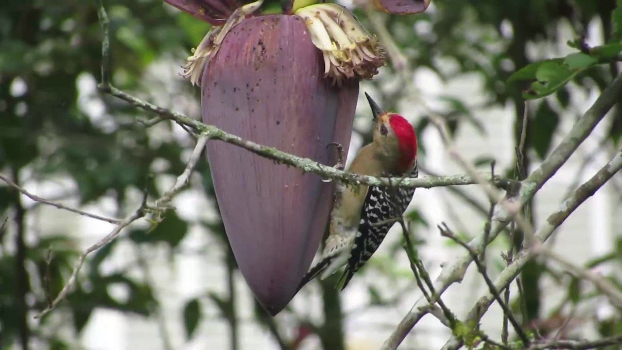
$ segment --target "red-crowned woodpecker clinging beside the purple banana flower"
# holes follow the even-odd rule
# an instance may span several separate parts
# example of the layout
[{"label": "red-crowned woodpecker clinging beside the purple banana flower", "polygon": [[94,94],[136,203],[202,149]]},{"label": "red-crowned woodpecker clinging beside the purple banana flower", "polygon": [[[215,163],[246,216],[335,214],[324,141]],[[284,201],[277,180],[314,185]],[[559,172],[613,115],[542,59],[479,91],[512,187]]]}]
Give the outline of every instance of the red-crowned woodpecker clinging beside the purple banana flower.
[{"label": "red-crowned woodpecker clinging beside the purple banana flower", "polygon": [[[349,171],[377,177],[417,177],[417,136],[401,115],[383,111],[365,93],[374,118],[374,140],[360,149]],[[322,280],[344,265],[348,285],[383,242],[396,217],[406,211],[415,189],[338,184],[330,214],[328,237],[320,262],[302,279],[299,290],[320,275]]]}]

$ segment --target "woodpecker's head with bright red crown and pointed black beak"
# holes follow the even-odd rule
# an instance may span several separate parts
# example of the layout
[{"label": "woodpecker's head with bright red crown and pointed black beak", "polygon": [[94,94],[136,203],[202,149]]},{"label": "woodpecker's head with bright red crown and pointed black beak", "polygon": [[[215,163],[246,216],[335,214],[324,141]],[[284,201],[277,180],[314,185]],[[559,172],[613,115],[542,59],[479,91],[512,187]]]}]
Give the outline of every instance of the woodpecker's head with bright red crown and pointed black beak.
[{"label": "woodpecker's head with bright red crown and pointed black beak", "polygon": [[417,158],[417,135],[403,116],[386,112],[365,93],[374,117],[374,143],[384,160],[394,164],[397,173],[412,169]]}]

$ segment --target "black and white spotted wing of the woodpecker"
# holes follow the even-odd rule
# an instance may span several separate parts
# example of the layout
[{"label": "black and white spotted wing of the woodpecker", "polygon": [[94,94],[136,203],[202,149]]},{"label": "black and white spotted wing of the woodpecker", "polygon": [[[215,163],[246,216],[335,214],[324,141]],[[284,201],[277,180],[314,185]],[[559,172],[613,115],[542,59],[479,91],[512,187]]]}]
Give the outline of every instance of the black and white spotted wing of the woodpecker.
[{"label": "black and white spotted wing of the woodpecker", "polygon": [[[419,167],[415,160],[409,177],[418,176]],[[344,272],[345,281],[341,287],[342,290],[348,285],[354,273],[363,267],[383,242],[387,232],[395,224],[395,221],[391,221],[391,219],[404,215],[414,192],[414,188],[369,187],[363,208],[361,209],[358,233],[348,258],[348,266]],[[389,222],[385,222],[387,220]],[[385,223],[379,224],[381,222]]]}]

